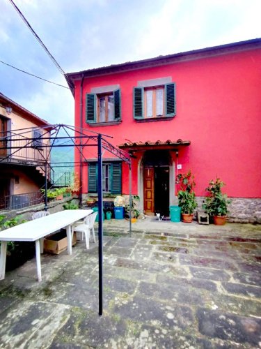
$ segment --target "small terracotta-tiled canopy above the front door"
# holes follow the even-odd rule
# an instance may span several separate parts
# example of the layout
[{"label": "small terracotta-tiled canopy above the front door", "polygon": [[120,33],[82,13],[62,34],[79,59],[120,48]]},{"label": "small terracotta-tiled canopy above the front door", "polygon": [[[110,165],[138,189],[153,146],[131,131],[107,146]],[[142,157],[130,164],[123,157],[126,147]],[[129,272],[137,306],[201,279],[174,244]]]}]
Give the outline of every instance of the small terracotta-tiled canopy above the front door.
[{"label": "small terracotta-tiled canopy above the front door", "polygon": [[162,149],[162,150],[173,150],[178,151],[180,147],[187,147],[191,144],[190,140],[157,140],[156,142],[151,142],[147,140],[145,142],[126,142],[118,145],[120,149],[128,150],[130,154],[133,154],[135,151],[141,150],[153,150],[153,149]]}]

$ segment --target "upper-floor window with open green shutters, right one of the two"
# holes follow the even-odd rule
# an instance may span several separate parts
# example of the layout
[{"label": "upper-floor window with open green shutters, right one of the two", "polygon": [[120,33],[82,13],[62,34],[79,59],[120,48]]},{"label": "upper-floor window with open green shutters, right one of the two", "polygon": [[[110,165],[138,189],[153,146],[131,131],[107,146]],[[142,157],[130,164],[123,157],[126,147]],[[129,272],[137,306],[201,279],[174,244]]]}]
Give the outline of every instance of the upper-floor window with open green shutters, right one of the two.
[{"label": "upper-floor window with open green shutters, right one of the two", "polygon": [[134,87],[134,119],[175,116],[175,84]]}]

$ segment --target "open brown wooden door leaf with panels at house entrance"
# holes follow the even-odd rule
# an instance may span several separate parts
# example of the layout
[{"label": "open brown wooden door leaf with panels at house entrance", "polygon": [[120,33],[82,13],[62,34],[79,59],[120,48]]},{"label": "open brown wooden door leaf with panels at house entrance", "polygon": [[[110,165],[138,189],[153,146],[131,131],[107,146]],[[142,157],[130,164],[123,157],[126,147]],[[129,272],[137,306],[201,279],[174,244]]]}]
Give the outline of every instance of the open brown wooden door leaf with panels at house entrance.
[{"label": "open brown wooden door leaf with panels at house entrance", "polygon": [[144,181],[144,211],[145,214],[154,215],[154,168],[145,167]]}]

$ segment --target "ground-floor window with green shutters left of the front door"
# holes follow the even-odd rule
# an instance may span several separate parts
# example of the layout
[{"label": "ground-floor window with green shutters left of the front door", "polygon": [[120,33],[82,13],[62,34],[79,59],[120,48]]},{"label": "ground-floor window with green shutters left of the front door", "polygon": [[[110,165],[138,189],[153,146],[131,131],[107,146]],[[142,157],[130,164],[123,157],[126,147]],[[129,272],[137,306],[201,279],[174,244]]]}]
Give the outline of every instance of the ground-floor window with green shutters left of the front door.
[{"label": "ground-floor window with green shutters left of the front door", "polygon": [[[88,193],[97,193],[97,163],[88,163]],[[102,163],[102,189],[104,193],[121,194],[121,163]]]}]

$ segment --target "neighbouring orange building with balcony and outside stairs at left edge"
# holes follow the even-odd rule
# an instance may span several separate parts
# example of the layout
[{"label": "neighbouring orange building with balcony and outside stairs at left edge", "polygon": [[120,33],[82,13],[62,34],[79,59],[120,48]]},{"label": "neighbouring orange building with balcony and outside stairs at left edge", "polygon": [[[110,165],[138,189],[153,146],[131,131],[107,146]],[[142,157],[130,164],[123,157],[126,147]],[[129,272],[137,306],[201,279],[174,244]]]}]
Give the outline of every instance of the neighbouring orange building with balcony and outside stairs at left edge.
[{"label": "neighbouring orange building with balcony and outside stairs at left edge", "polygon": [[[47,121],[0,93],[0,209],[24,207],[29,201],[37,203],[39,189],[45,185],[42,161],[50,160],[49,149],[41,145],[49,140],[28,138],[49,137],[51,128],[47,126]],[[10,138],[16,139],[12,147],[17,149],[10,149]],[[31,147],[24,148],[28,142]]]}]

